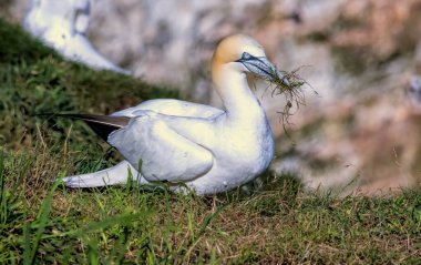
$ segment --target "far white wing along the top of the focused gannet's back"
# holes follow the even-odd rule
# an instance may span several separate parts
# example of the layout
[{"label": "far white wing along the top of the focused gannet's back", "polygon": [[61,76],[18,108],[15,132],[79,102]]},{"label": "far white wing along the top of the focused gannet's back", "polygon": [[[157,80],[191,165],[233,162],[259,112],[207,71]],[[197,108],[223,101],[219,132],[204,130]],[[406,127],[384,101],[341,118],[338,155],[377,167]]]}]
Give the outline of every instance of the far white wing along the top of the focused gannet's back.
[{"label": "far white wing along the top of the focused gannet's back", "polygon": [[136,116],[138,111],[154,111],[156,113],[174,116],[213,118],[224,113],[222,110],[181,100],[148,100],[136,106],[132,106],[113,113],[113,116]]}]

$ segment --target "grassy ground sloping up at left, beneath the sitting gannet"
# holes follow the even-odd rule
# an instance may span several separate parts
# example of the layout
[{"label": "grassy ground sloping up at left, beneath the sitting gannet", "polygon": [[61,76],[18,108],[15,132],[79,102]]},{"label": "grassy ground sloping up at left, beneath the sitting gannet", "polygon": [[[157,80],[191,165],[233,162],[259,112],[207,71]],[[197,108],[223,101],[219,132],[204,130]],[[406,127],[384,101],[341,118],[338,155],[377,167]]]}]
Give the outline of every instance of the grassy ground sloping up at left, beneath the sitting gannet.
[{"label": "grassy ground sloping up at left, beneath the sitting gannet", "polygon": [[63,61],[2,20],[0,35],[1,264],[420,263],[421,191],[318,196],[270,174],[207,197],[64,188],[53,180],[117,154],[82,123],[33,114],[109,113],[177,93]]}]

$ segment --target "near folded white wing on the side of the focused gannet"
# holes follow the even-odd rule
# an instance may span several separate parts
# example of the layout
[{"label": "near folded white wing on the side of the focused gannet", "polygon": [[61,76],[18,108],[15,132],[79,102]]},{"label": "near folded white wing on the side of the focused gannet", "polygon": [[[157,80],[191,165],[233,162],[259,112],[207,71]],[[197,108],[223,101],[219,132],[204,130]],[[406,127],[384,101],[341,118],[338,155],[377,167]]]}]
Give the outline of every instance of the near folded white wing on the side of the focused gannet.
[{"label": "near folded white wing on the side of the focused gannet", "polygon": [[154,112],[142,113],[112,132],[109,143],[147,181],[192,181],[212,169],[213,155],[207,149],[175,132]]}]

